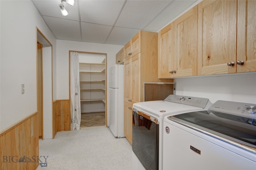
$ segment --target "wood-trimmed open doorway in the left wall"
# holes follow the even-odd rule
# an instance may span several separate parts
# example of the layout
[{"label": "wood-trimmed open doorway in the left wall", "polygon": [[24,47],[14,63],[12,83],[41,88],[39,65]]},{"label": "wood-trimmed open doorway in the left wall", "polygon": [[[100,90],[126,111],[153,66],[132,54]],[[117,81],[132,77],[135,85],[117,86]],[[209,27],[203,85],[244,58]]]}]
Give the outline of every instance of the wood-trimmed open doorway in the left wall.
[{"label": "wood-trimmed open doorway in the left wall", "polygon": [[[54,138],[49,124],[52,124],[52,44],[36,28],[36,90],[39,139]],[[46,120],[46,121],[45,121]]]}]

